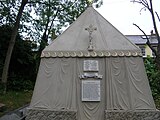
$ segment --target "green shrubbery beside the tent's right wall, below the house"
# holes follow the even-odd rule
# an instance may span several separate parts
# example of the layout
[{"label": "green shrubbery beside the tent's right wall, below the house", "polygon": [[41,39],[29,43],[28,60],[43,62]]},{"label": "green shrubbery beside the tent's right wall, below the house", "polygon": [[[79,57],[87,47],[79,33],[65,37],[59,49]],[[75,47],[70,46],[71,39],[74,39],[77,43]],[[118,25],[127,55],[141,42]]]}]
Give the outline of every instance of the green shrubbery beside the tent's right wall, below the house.
[{"label": "green shrubbery beside the tent's right wall, below the house", "polygon": [[153,97],[155,100],[160,100],[160,71],[153,58],[146,58],[144,63]]}]

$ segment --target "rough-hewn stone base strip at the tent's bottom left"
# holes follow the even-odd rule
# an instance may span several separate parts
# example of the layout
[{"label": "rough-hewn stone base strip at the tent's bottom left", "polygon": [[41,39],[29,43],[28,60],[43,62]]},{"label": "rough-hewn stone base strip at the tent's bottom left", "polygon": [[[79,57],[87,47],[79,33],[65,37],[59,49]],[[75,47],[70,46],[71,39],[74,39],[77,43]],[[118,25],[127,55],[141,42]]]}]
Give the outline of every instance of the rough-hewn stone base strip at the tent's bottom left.
[{"label": "rough-hewn stone base strip at the tent's bottom left", "polygon": [[25,120],[77,120],[77,112],[28,109]]}]

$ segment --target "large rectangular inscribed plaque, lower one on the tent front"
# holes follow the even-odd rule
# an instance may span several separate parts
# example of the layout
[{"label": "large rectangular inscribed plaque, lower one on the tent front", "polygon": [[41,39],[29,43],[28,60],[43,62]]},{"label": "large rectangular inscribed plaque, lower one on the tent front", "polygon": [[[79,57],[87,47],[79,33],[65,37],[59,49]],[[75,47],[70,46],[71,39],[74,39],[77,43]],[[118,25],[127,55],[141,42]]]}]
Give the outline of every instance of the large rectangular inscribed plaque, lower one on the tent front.
[{"label": "large rectangular inscribed plaque, lower one on the tent front", "polygon": [[100,101],[100,81],[82,81],[82,101]]}]

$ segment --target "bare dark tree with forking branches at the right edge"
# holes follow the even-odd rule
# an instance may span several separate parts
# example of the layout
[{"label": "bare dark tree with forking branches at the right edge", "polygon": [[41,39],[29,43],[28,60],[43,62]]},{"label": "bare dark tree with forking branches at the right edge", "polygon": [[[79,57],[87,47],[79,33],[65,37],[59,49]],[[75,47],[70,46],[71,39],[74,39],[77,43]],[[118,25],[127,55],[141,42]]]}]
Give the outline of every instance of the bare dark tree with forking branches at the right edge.
[{"label": "bare dark tree with forking branches at the right edge", "polygon": [[151,19],[153,22],[153,27],[154,27],[154,32],[155,32],[155,34],[153,34],[153,31],[151,31],[151,37],[156,36],[157,38],[157,41],[158,41],[157,50],[153,48],[153,46],[151,45],[150,39],[148,38],[146,33],[137,24],[133,24],[133,25],[135,25],[146,36],[146,39],[147,39],[146,44],[150,47],[152,52],[155,54],[156,56],[155,61],[156,61],[157,67],[160,69],[160,36],[159,36],[159,31],[157,29],[157,23],[156,23],[156,18],[155,18],[155,15],[156,15],[158,22],[160,22],[159,15],[156,11],[154,11],[152,0],[133,0],[132,2],[141,4],[143,6],[141,10],[147,9],[151,13]]}]

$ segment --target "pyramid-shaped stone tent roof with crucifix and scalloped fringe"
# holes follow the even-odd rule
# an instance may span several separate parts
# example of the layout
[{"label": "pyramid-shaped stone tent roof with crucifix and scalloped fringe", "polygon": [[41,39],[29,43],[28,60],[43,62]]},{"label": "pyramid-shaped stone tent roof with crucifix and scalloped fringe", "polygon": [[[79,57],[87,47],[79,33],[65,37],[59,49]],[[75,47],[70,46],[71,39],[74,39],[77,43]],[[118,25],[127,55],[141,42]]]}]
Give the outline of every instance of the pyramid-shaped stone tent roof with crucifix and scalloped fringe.
[{"label": "pyramid-shaped stone tent roof with crucifix and scalloped fringe", "polygon": [[93,7],[47,46],[41,57],[141,56],[139,47],[127,39]]}]

